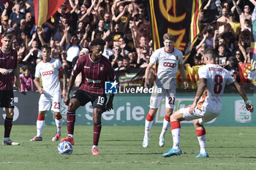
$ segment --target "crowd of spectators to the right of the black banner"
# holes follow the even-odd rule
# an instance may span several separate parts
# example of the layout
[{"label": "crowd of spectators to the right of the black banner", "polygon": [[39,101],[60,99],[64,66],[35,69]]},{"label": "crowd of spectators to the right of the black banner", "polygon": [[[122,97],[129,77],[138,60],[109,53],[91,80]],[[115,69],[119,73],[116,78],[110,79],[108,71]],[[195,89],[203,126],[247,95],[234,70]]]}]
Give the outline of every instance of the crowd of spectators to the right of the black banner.
[{"label": "crowd of spectators to the right of the black banner", "polygon": [[201,32],[188,64],[200,65],[203,51],[213,47],[218,53],[217,63],[240,82],[238,64],[250,63],[255,5],[255,0],[203,1],[199,18]]}]

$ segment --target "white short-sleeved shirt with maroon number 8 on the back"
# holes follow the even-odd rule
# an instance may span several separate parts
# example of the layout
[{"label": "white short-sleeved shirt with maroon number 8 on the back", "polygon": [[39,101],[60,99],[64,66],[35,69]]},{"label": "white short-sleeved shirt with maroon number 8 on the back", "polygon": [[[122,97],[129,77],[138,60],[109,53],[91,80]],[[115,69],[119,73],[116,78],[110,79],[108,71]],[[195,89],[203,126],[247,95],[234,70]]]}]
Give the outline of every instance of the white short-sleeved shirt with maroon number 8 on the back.
[{"label": "white short-sleeved shirt with maroon number 8 on the back", "polygon": [[[197,103],[197,109],[200,107],[222,107],[221,98],[225,85],[230,85],[235,80],[227,71],[218,64],[208,63],[198,69],[198,75],[206,79],[206,90]],[[214,108],[212,107],[212,108]]]}]

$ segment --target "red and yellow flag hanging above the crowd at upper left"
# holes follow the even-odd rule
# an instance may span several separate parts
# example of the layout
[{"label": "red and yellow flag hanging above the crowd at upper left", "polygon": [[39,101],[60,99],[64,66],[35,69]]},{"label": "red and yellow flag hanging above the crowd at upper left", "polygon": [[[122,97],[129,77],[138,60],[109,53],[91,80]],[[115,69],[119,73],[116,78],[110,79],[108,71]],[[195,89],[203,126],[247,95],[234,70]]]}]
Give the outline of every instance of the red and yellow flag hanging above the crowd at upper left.
[{"label": "red and yellow flag hanging above the crowd at upper left", "polygon": [[33,0],[34,4],[34,20],[37,26],[42,26],[57,9],[64,0]]}]

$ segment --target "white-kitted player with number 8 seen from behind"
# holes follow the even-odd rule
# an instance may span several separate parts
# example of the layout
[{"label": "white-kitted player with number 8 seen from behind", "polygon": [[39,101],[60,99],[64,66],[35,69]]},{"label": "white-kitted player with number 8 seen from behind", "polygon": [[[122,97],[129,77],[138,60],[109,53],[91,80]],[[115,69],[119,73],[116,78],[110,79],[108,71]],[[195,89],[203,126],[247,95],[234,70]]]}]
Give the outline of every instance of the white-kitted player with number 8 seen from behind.
[{"label": "white-kitted player with number 8 seen from behind", "polygon": [[206,129],[204,128],[203,123],[213,120],[221,112],[221,98],[225,85],[233,85],[244,99],[246,109],[249,110],[249,112],[253,112],[251,101],[246,97],[244,90],[238,82],[231,77],[230,73],[226,69],[215,64],[216,57],[217,54],[214,49],[208,48],[205,50],[203,60],[206,63],[206,66],[202,66],[198,69],[200,83],[197,88],[194,102],[190,107],[179,109],[170,116],[170,124],[173,134],[173,147],[170,148],[169,152],[163,154],[163,157],[181,155],[180,122],[183,120],[194,120],[195,131],[200,144],[200,153],[196,158],[208,158],[208,153],[206,152]]}]

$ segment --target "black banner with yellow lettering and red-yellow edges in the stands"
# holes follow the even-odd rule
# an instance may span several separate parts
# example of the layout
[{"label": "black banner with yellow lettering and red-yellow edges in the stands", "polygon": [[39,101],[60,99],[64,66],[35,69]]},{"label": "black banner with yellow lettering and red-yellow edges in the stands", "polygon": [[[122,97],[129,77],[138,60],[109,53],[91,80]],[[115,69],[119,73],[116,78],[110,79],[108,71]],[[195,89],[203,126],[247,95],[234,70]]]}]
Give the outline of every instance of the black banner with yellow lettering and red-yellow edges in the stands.
[{"label": "black banner with yellow lettering and red-yellow edges in the stands", "polygon": [[201,0],[149,0],[154,50],[162,46],[162,36],[176,36],[175,47],[183,51],[184,61],[200,33],[198,26]]}]

